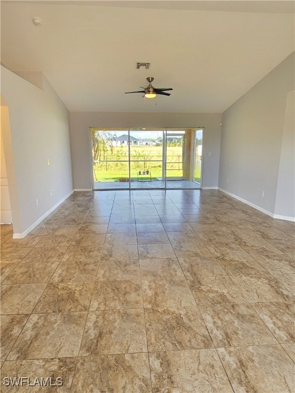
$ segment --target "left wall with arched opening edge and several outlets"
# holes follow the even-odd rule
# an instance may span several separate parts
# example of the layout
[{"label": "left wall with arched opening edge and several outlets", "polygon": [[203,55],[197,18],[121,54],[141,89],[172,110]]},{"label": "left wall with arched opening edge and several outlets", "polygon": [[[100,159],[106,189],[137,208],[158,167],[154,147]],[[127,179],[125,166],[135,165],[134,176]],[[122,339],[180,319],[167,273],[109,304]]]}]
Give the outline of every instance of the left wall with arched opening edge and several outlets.
[{"label": "left wall with arched opening edge and several outlets", "polygon": [[43,85],[39,89],[1,67],[10,122],[3,138],[15,237],[27,234],[73,190],[69,112],[46,78]]}]

